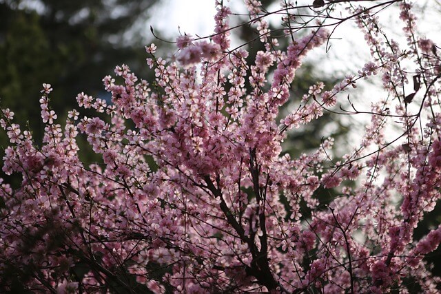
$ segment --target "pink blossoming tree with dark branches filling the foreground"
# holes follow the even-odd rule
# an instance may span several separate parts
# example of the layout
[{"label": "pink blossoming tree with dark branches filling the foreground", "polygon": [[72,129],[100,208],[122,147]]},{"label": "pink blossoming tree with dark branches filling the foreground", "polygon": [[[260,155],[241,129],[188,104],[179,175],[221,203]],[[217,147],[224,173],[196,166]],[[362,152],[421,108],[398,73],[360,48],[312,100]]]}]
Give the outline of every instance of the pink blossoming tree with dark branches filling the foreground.
[{"label": "pink blossoming tree with dark branches filling the foreground", "polygon": [[[281,2],[284,34],[269,30],[270,13],[259,1],[245,0],[247,25],[265,44],[252,63],[246,50],[230,48],[232,12],[216,1],[209,39],[178,37],[176,61],[147,46],[155,81],[116,67],[115,78],[103,79],[112,103],[79,94],[79,106],[100,115],[80,118],[72,110],[64,129],[50,109],[52,88],[43,84],[40,147],[3,109],[11,144],[3,171],[23,180],[17,188],[1,182],[2,291],[439,291],[440,277],[424,256],[440,244],[441,227],[413,238],[440,197],[437,46],[418,36],[410,1]],[[405,45],[378,21],[389,6],[399,10]],[[332,89],[317,83],[302,98],[290,97],[302,59],[347,20],[365,34],[371,59]],[[285,50],[280,38],[289,40]],[[376,75],[382,92],[347,155],[330,158],[332,138],[298,158],[284,154],[290,129],[328,111],[360,114],[339,101]],[[290,100],[298,107],[280,120]],[[391,140],[385,129],[393,123],[401,132]],[[102,154],[102,165],[79,160],[79,133]],[[318,189],[338,196],[327,204]]]}]

